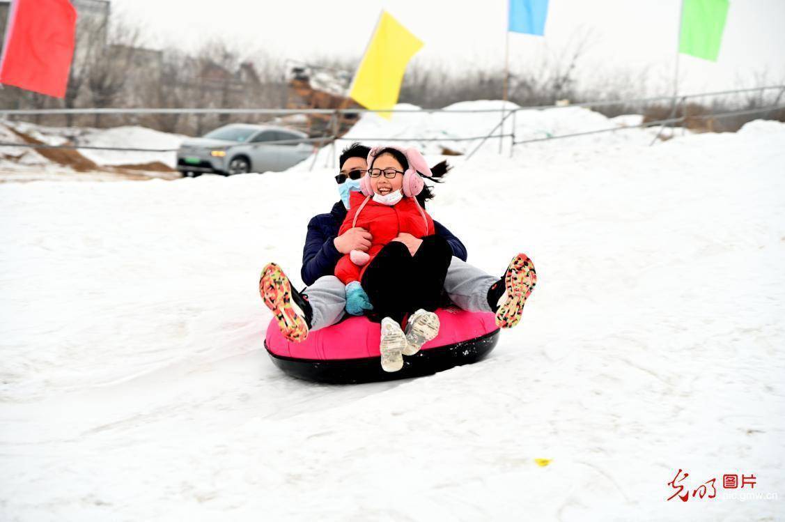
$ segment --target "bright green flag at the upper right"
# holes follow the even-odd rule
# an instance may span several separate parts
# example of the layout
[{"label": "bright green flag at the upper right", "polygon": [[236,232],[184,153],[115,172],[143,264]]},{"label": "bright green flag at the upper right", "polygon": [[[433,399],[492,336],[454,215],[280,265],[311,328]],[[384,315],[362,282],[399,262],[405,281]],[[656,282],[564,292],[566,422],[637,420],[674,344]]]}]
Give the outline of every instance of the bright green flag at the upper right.
[{"label": "bright green flag at the upper right", "polygon": [[728,0],[684,0],[679,52],[717,61],[727,17]]}]

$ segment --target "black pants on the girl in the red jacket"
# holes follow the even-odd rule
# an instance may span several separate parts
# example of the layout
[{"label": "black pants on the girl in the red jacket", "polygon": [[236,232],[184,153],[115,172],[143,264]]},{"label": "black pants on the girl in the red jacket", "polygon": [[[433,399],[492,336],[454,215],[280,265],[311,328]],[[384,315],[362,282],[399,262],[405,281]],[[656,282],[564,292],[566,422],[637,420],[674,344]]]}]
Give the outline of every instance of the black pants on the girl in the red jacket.
[{"label": "black pants on the girl in the red jacket", "polygon": [[418,308],[433,312],[441,303],[444,278],[452,249],[440,235],[427,235],[412,256],[403,243],[392,241],[382,248],[363,274],[374,319],[389,317],[399,324]]}]

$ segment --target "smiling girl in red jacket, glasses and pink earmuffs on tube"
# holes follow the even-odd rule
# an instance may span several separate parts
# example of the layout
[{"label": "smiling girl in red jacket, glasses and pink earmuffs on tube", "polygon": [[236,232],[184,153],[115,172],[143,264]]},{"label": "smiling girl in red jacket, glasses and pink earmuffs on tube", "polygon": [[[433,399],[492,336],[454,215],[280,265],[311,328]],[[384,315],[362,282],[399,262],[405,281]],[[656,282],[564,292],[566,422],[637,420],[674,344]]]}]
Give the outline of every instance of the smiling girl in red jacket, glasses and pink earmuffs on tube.
[{"label": "smiling girl in red jacket, glasses and pink earmuffs on tube", "polygon": [[424,186],[421,176],[431,176],[422,155],[414,148],[372,148],[368,165],[362,192],[349,195],[339,234],[364,228],[371,247],[341,257],[335,276],[346,285],[348,304],[363,290],[367,294],[375,318],[382,321],[382,368],[399,371],[403,355],[414,355],[439,333],[433,311],[453,252],[446,239],[434,235],[433,219],[416,199]]}]

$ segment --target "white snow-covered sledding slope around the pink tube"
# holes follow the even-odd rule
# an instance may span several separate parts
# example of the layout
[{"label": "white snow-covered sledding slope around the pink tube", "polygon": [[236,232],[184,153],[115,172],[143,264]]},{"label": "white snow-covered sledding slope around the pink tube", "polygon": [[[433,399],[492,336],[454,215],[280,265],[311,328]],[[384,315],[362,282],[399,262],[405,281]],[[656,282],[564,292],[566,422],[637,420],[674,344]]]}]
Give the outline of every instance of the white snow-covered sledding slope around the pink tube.
[{"label": "white snow-covered sledding slope around the pink tube", "polygon": [[[350,137],[477,130],[397,118]],[[298,279],[329,148],[312,172],[0,184],[0,520],[782,518],[785,125],[652,132],[452,157],[429,210],[491,273],[530,254],[538,287],[489,359],[372,385],[262,346],[258,272]],[[717,498],[667,502],[678,469]],[[779,499],[723,498],[750,491],[725,473]]]}]

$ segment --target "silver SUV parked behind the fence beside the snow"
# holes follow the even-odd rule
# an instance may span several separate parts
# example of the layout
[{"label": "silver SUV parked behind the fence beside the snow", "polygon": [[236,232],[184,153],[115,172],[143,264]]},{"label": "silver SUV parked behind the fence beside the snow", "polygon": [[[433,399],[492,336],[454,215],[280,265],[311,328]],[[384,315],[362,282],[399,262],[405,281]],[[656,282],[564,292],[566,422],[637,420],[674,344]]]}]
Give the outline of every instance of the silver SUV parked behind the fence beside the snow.
[{"label": "silver SUV parked behind the fence beside the snow", "polygon": [[280,171],[312,151],[308,135],[298,130],[232,123],[204,137],[184,140],[177,151],[177,170],[184,176]]}]

